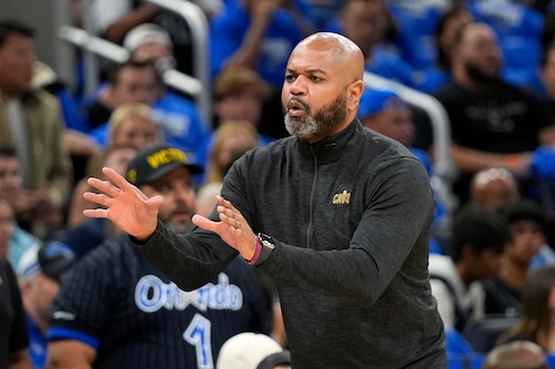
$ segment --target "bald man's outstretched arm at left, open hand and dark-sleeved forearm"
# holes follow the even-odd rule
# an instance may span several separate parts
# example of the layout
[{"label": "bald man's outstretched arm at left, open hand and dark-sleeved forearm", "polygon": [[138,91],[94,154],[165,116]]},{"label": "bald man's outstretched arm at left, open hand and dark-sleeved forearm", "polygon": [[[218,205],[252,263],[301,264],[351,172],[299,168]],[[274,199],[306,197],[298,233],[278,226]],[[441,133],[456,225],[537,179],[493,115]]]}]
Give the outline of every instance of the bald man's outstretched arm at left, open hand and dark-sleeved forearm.
[{"label": "bald man's outstretched arm at left, open hand and dark-sleeved forearm", "polygon": [[[148,242],[150,247],[139,249],[155,267],[163,268],[167,275],[174,277],[181,289],[192,290],[205,285],[236,257],[238,252],[222,240],[231,242],[233,230],[229,223],[213,222],[212,229],[220,229],[218,235],[224,235],[222,239],[216,234],[202,229],[194,230],[194,239],[185,238],[159,223],[158,206],[163,201],[161,196],[149,198],[109,167],[102,168],[102,173],[108,181],[94,177],[88,181],[99,193],[83,194],[87,201],[101,207],[85,209],[83,215],[110,219],[129,234],[135,244],[144,245]],[[195,215],[193,218],[198,217],[200,216]],[[251,235],[254,237],[252,230]],[[254,239],[250,242],[255,243]],[[160,252],[164,247],[170,248],[168,253]]]}]

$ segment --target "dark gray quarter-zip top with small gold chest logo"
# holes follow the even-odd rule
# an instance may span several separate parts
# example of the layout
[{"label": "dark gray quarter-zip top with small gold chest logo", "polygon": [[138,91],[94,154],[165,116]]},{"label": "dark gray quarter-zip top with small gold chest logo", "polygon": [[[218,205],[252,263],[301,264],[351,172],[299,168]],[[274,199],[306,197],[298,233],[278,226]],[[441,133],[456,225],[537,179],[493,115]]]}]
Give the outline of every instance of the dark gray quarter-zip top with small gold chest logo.
[{"label": "dark gray quarter-zip top with small gold chest logo", "polygon": [[[222,196],[274,240],[259,268],[278,286],[293,368],[447,367],[427,273],[434,198],[404,146],[359,121],[316,144],[283,139],[235,162]],[[162,224],[141,249],[183,289],[236,256],[215,234]]]}]

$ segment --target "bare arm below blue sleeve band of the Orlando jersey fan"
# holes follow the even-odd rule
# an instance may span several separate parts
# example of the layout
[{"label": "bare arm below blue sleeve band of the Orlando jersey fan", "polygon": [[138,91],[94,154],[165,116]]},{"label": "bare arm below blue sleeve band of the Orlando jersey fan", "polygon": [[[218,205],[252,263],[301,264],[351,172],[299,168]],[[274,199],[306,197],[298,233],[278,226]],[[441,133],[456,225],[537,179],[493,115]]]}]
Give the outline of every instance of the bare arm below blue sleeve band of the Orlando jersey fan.
[{"label": "bare arm below blue sleeve band of the Orlando jersey fan", "polygon": [[91,369],[97,351],[77,340],[59,340],[48,344],[47,369]]}]

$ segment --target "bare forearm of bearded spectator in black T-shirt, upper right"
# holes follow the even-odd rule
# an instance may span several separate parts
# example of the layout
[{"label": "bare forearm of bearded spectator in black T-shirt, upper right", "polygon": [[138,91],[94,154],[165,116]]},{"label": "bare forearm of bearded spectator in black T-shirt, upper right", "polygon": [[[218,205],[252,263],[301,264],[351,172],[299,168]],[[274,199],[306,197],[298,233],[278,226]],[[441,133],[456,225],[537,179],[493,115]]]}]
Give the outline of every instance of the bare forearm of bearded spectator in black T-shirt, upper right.
[{"label": "bare forearm of bearded spectator in black T-shirt, upper right", "polygon": [[486,153],[457,145],[451,146],[453,162],[462,172],[474,173],[488,167],[505,167],[517,176],[529,171],[532,153],[502,154]]}]

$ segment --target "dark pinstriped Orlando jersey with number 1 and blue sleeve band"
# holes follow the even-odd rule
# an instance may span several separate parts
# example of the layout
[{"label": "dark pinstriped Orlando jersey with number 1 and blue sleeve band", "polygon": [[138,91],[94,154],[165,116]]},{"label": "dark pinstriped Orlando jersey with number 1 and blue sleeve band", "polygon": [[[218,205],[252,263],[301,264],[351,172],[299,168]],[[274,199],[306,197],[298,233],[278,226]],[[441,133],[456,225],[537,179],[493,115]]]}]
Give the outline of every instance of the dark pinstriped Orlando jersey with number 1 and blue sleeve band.
[{"label": "dark pinstriped Orlando jersey with number 1 and blue sleeve band", "polygon": [[49,340],[77,339],[97,350],[94,368],[214,368],[223,342],[268,332],[256,277],[240,257],[214,280],[182,291],[128,244],[104,242],[62,280]]}]

